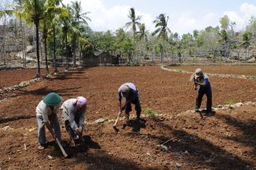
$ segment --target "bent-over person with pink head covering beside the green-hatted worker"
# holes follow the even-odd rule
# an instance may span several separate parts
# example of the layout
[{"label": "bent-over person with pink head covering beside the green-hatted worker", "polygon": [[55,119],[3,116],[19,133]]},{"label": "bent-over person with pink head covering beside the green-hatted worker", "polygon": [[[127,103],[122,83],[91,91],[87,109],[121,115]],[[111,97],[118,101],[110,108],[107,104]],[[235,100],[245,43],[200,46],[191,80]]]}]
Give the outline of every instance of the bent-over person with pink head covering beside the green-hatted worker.
[{"label": "bent-over person with pink head covering beside the green-hatted worker", "polygon": [[83,141],[84,116],[87,109],[87,99],[78,96],[76,99],[66,100],[62,106],[62,121],[71,139],[71,146],[75,146],[75,139]]}]

